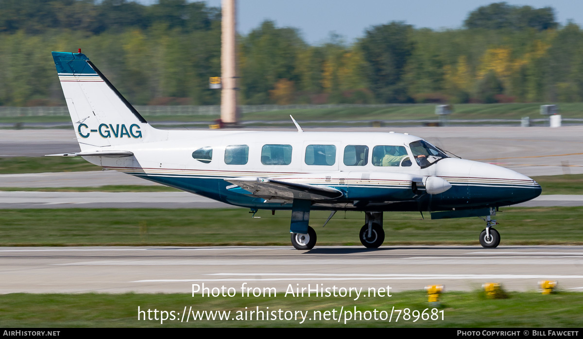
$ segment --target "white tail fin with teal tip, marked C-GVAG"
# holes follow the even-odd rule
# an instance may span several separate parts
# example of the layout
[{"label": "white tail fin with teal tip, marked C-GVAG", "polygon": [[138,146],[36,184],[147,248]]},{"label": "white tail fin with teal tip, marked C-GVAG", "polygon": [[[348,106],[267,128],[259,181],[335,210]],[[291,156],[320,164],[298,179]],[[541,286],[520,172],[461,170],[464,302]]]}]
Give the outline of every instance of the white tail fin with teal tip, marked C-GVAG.
[{"label": "white tail fin with teal tip, marked C-GVAG", "polygon": [[80,50],[52,58],[81,150],[163,140]]}]

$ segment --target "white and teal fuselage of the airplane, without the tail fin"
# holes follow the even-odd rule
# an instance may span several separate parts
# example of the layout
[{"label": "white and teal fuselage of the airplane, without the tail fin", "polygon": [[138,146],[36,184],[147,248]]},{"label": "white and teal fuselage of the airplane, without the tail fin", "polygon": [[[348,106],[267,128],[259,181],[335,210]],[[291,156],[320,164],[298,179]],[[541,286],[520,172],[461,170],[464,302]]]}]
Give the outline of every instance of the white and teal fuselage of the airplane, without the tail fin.
[{"label": "white and teal fuselage of the airplane, without the tail fin", "polygon": [[[435,202],[432,200],[434,204],[437,200],[441,201],[439,205],[441,207],[434,209],[507,205],[529,200],[540,194],[540,186],[528,176],[496,165],[458,158],[442,158],[433,164],[426,163],[425,166],[417,161],[387,165],[378,157],[375,158],[378,147],[399,146],[402,147],[401,150],[406,151],[402,157],[415,159],[416,154],[409,145],[422,139],[401,133],[241,130],[164,132],[167,132],[164,141],[124,144],[123,149],[119,146],[100,147],[101,150],[131,151],[134,157],[86,157],[86,159],[103,167],[138,175],[227,203],[270,209],[273,206],[265,204],[266,201],[262,201],[263,204],[258,204],[257,200],[250,203],[248,197],[245,197],[247,200],[236,199],[233,197],[236,193],[222,192],[229,186],[225,180],[249,176],[283,178],[290,182],[345,188],[344,203],[352,200],[361,201],[368,199],[367,197],[371,197],[370,200],[377,203],[388,203],[416,199],[419,194],[403,195],[402,192],[409,192],[415,182],[424,189],[426,178],[439,177],[451,183],[455,189],[449,190],[449,193],[442,193],[440,200],[434,199]],[[157,133],[164,132],[157,130]],[[147,130],[144,133],[147,133]],[[269,147],[274,145],[285,149],[285,161],[277,163],[266,156],[269,155]],[[354,146],[360,150],[366,148],[366,157],[355,161]],[[231,154],[233,152],[230,151],[233,147],[238,148],[240,155],[236,161],[233,161]],[[206,153],[200,153],[206,154],[202,161],[193,157],[193,153],[201,149],[206,150]],[[212,149],[210,157],[209,149]],[[318,156],[325,161],[321,160],[319,163],[315,161],[315,157]],[[224,181],[224,185],[213,181]],[[361,190],[356,190],[356,187]],[[375,188],[391,190],[381,192]],[[213,190],[216,192],[212,192]],[[514,193],[518,191],[521,193],[518,195]],[[501,192],[503,196],[496,197],[496,192]],[[335,203],[333,206],[339,205]],[[349,208],[346,204],[343,206]]]}]

